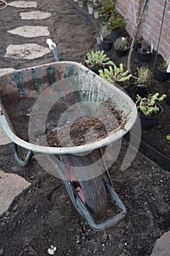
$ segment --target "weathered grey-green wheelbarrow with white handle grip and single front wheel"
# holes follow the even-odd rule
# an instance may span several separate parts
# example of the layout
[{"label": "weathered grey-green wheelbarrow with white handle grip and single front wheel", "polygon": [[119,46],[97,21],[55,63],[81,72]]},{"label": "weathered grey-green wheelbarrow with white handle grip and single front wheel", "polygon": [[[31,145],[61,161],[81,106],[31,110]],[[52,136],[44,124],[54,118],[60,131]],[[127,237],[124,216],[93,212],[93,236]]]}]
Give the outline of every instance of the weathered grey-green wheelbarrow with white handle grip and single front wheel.
[{"label": "weathered grey-green wheelbarrow with white handle grip and single front wheel", "polygon": [[[119,148],[117,141],[134,126],[136,107],[117,86],[82,64],[58,61],[56,45],[50,39],[47,43],[55,55],[54,63],[1,75],[0,124],[12,140],[18,163],[26,166],[36,157],[45,170],[63,180],[72,203],[88,225],[94,230],[104,230],[126,214],[108,168],[114,162],[114,151]],[[62,131],[65,128],[68,131],[81,116],[101,113],[100,118],[106,118],[105,113],[107,110],[110,113],[111,108],[120,113],[121,121],[115,122],[107,137],[95,138],[92,133],[89,135],[92,140],[78,146],[69,138],[62,146],[47,143],[49,130],[55,132],[57,127],[63,135]],[[25,159],[20,157],[20,148],[27,151]],[[93,151],[99,152],[98,160],[91,157]],[[118,213],[102,219],[107,212],[107,197]]]}]

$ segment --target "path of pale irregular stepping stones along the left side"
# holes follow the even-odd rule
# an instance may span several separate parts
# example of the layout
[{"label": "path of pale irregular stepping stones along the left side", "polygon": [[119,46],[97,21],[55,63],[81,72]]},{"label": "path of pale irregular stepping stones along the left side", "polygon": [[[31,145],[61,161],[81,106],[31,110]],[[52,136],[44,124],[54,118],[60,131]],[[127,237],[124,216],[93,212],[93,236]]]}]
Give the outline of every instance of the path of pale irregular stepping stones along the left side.
[{"label": "path of pale irregular stepping stones along the left side", "polygon": [[[9,6],[15,8],[36,8],[36,1],[13,1],[9,3]],[[41,20],[49,18],[50,12],[20,12],[20,18],[23,20]],[[22,37],[42,37],[50,36],[50,31],[47,26],[20,26],[12,30],[8,30],[7,33],[19,35]],[[37,59],[50,53],[50,49],[37,45],[35,43],[22,44],[22,45],[8,45],[6,49],[5,57],[12,57],[14,59]],[[0,69],[0,75],[7,72],[12,72],[15,69],[4,68]],[[3,129],[0,127],[0,145],[11,143],[9,138],[5,135]],[[12,200],[16,195],[26,189],[30,183],[24,178],[21,178],[17,174],[4,173],[0,170],[0,215],[7,211]],[[10,188],[10,189],[9,189]]]}]

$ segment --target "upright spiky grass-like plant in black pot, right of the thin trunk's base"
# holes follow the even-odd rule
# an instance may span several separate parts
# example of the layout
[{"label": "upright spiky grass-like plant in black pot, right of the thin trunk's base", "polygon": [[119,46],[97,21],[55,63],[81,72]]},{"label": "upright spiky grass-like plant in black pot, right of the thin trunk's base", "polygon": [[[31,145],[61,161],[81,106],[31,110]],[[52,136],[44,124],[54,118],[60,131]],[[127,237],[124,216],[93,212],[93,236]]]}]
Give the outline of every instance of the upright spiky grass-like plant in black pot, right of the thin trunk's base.
[{"label": "upright spiky grass-like plant in black pot, right of the thin trunk's base", "polygon": [[137,68],[138,76],[136,78],[136,91],[135,95],[139,94],[140,97],[145,97],[147,95],[147,86],[150,86],[152,79],[152,72],[149,67],[139,67]]}]

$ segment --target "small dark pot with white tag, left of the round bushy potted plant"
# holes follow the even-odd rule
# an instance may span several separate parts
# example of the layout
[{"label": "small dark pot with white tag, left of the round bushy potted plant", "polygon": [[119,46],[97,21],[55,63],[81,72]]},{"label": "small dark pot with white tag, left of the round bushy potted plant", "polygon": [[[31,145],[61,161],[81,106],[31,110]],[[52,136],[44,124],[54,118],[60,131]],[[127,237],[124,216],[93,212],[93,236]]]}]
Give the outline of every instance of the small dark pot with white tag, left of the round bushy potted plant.
[{"label": "small dark pot with white tag, left of the round bushy potted plant", "polygon": [[108,51],[112,49],[112,40],[109,37],[107,26],[101,26],[101,50]]}]

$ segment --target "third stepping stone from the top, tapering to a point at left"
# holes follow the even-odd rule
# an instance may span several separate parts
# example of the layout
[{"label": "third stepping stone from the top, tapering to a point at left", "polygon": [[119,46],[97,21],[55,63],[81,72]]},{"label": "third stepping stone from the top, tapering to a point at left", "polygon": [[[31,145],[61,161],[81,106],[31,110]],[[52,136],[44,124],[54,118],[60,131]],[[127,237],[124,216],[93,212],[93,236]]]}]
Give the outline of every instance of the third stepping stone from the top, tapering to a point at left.
[{"label": "third stepping stone from the top, tapering to a point at left", "polygon": [[22,37],[43,37],[50,35],[47,26],[20,26],[16,29],[8,30],[7,32],[10,34],[18,34]]}]

